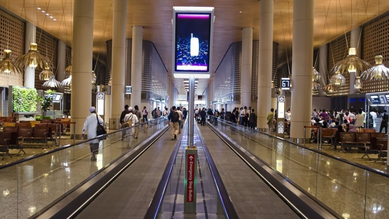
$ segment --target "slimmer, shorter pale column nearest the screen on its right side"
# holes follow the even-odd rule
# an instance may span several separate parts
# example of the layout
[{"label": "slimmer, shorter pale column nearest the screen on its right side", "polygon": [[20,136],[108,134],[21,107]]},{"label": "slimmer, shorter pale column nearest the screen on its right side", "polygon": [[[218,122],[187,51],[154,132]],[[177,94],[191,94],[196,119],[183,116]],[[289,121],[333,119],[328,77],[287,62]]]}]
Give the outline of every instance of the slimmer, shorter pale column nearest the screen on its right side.
[{"label": "slimmer, shorter pale column nearest the screen on its right side", "polygon": [[240,106],[251,106],[252,28],[242,29],[242,77]]}]

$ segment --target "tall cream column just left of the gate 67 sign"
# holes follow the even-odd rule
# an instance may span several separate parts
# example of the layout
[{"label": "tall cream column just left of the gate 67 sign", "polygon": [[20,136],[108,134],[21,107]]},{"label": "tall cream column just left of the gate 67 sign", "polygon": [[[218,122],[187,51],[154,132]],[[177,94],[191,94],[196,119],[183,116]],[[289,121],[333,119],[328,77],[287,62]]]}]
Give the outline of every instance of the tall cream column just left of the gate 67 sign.
[{"label": "tall cream column just left of the gate 67 sign", "polygon": [[273,0],[259,1],[258,53],[257,126],[265,131],[268,128],[267,114],[272,108]]}]

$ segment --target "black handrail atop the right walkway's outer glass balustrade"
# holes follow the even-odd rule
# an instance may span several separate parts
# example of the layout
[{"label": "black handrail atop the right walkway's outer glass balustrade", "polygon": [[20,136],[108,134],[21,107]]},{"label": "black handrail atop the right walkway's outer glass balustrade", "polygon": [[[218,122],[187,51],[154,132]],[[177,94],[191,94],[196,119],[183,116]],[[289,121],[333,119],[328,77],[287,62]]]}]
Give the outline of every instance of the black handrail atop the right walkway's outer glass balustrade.
[{"label": "black handrail atop the right walkway's outer glass balustrade", "polygon": [[[210,117],[214,117],[214,116],[210,116]],[[233,124],[233,125],[237,125],[238,127],[242,127],[242,128],[245,128],[245,129],[249,129],[248,127],[245,127],[244,125],[235,124],[235,123],[233,123],[233,122],[230,122],[230,121],[228,121],[228,120],[224,120],[224,119],[222,119],[222,118],[218,118],[218,117],[214,117],[214,118],[217,118],[218,120],[223,120],[223,122],[227,122],[227,123],[231,123],[231,124]],[[322,152],[322,151],[320,151],[320,150],[315,150],[315,149],[306,147],[306,146],[304,146],[304,145],[301,145],[301,144],[298,144],[298,143],[294,143],[293,141],[285,140],[284,138],[272,136],[272,135],[270,135],[270,134],[268,134],[268,133],[266,133],[266,132],[261,132],[261,131],[258,131],[258,130],[256,130],[256,129],[249,129],[249,130],[250,130],[250,131],[256,131],[256,132],[259,132],[259,133],[261,133],[261,134],[265,134],[265,135],[270,136],[270,137],[272,137],[272,138],[277,138],[277,139],[279,139],[279,140],[281,140],[281,141],[285,141],[285,142],[290,143],[290,144],[292,144],[292,145],[296,145],[296,146],[298,146],[298,147],[302,147],[302,148],[304,148],[304,149],[307,149],[307,150],[310,150],[310,151],[312,151],[312,152],[315,152],[315,153],[324,155],[324,156],[326,156],[326,157],[330,157],[330,158],[335,159],[335,160],[337,160],[337,161],[345,162],[345,163],[350,164],[350,165],[352,165],[352,166],[356,166],[357,168],[361,168],[361,169],[363,169],[363,170],[371,171],[371,172],[373,172],[373,173],[377,173],[377,174],[379,174],[379,175],[382,175],[382,176],[384,176],[384,177],[388,177],[388,178],[389,178],[389,173],[385,173],[384,171],[377,170],[377,169],[374,169],[374,168],[370,168],[370,167],[364,166],[364,165],[362,165],[362,164],[357,164],[357,163],[348,161],[348,160],[343,159],[343,158],[340,158],[340,157],[335,157],[335,156],[333,156],[333,155],[324,153],[324,152]]]}]

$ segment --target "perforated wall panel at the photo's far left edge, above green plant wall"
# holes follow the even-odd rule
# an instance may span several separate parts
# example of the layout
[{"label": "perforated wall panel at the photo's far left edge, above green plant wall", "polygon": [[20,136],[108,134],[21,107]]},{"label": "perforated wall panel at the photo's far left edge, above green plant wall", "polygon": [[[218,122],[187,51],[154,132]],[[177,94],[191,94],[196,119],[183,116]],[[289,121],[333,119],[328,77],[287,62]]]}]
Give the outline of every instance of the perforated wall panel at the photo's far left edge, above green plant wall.
[{"label": "perforated wall panel at the photo's far left edge, above green plant wall", "polygon": [[[11,49],[11,59],[15,60],[24,52],[25,25],[19,19],[0,10],[0,59],[4,58],[4,49]],[[0,85],[23,86],[23,72],[21,74],[0,74]]]}]

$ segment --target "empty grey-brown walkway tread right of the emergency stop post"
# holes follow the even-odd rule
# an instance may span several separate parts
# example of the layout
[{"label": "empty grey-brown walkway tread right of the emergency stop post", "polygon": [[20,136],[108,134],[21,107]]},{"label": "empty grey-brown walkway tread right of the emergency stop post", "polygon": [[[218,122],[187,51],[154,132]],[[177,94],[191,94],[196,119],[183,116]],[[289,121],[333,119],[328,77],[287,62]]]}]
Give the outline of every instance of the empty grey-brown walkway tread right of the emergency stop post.
[{"label": "empty grey-brown walkway tread right of the emergency stop post", "polygon": [[208,126],[199,128],[240,219],[300,218]]}]

